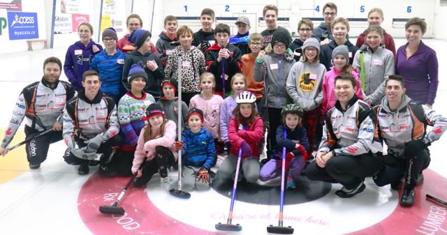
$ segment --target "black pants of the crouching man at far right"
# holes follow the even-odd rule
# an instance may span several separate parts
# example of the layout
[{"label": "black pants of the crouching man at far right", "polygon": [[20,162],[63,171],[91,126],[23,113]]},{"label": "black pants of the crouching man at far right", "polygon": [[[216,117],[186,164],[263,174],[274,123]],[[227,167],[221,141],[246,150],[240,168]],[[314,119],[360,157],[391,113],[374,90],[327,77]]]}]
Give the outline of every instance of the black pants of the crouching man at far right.
[{"label": "black pants of the crouching man at far right", "polygon": [[427,169],[431,161],[428,149],[420,151],[412,158],[395,158],[390,153],[385,158],[380,172],[374,176],[374,183],[378,186],[395,183],[404,177],[405,188],[414,188],[416,178],[423,169]]}]

